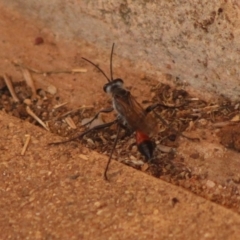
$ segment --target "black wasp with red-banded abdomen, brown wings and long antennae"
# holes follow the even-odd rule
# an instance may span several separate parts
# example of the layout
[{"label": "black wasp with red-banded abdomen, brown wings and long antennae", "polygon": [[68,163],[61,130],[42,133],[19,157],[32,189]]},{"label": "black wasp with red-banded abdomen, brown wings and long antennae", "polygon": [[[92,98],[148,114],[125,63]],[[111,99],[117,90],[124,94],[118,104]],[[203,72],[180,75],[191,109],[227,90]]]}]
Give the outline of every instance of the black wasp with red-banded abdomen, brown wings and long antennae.
[{"label": "black wasp with red-banded abdomen, brown wings and long antennae", "polygon": [[109,123],[105,123],[102,125],[95,126],[91,129],[82,132],[78,136],[69,139],[64,142],[57,142],[52,144],[58,143],[65,143],[68,141],[72,141],[78,138],[83,137],[84,135],[92,132],[94,130],[103,129],[109,127],[113,124],[117,124],[117,135],[104,171],[104,179],[108,180],[107,171],[109,164],[112,159],[113,152],[116,148],[116,144],[119,138],[120,129],[124,128],[130,132],[136,133],[136,144],[138,147],[139,152],[145,156],[147,161],[150,161],[153,157],[153,152],[155,148],[155,143],[151,140],[151,137],[154,133],[157,132],[157,122],[155,118],[149,114],[153,109],[155,109],[158,105],[155,104],[153,106],[149,106],[147,109],[144,109],[132,96],[131,92],[124,88],[124,82],[120,78],[113,78],[113,71],[112,71],[112,62],[113,62],[113,51],[114,51],[114,44],[112,45],[111,55],[110,55],[110,77],[109,78],[104,71],[97,66],[95,63],[91,62],[90,60],[83,58],[85,61],[92,64],[96,67],[107,79],[107,83],[103,86],[104,92],[108,93],[112,99],[112,107],[109,109],[99,111],[88,123],[84,125],[91,124],[94,119],[98,117],[98,115],[102,112],[112,112],[115,110],[117,113],[117,118]]}]

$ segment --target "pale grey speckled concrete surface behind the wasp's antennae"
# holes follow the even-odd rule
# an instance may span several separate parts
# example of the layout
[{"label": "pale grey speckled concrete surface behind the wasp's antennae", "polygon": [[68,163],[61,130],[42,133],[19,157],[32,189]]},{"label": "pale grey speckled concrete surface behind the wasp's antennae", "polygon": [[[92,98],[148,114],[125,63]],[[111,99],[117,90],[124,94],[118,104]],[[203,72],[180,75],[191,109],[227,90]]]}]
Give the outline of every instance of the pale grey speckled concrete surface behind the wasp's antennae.
[{"label": "pale grey speckled concrete surface behind the wasp's antennae", "polygon": [[83,38],[177,84],[239,98],[238,1],[3,1],[59,37]]}]

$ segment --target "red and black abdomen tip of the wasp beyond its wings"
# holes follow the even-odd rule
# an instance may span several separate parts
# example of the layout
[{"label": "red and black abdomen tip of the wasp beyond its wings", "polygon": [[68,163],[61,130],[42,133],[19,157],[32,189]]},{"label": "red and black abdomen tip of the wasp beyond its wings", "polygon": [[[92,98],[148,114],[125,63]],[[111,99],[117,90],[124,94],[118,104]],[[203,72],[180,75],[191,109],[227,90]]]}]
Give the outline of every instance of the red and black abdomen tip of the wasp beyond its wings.
[{"label": "red and black abdomen tip of the wasp beyond its wings", "polygon": [[146,158],[146,160],[152,159],[155,144],[151,141],[149,136],[136,131],[136,142],[138,151]]}]

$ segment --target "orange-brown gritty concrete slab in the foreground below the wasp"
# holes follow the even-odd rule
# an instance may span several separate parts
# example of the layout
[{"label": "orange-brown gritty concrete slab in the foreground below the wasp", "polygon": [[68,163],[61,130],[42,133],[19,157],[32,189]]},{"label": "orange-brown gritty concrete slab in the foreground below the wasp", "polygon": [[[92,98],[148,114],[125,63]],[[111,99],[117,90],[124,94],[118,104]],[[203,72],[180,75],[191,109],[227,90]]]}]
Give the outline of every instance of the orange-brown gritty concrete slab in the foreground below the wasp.
[{"label": "orange-brown gritty concrete slab in the foreground below the wasp", "polygon": [[[2,239],[238,239],[240,216],[0,112]],[[24,156],[25,135],[31,135]]]}]

